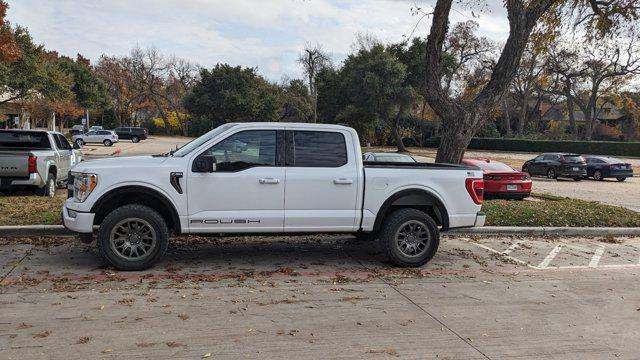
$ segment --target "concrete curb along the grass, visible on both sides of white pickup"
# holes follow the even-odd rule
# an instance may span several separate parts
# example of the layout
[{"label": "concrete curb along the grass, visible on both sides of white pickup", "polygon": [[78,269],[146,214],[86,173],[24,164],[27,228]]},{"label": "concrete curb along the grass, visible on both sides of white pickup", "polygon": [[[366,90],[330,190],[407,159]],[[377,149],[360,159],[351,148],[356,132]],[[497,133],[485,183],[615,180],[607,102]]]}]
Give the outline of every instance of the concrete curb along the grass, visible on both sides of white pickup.
[{"label": "concrete curb along the grass, visible on both sides of white pickup", "polygon": [[[558,236],[640,236],[640,227],[519,227],[485,226],[469,229],[454,229],[447,234],[460,235],[558,235]],[[73,236],[73,231],[62,225],[15,225],[0,226],[0,236]]]}]

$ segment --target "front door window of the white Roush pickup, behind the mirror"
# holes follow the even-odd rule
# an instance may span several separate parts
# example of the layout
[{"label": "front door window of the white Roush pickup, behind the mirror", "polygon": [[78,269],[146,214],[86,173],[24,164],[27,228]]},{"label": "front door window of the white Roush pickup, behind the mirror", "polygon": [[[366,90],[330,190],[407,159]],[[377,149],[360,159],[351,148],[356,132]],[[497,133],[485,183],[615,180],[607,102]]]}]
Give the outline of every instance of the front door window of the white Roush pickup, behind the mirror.
[{"label": "front door window of the white Roush pickup, behind the mirror", "polygon": [[242,131],[222,140],[205,153],[216,157],[217,171],[276,166],[276,131]]}]

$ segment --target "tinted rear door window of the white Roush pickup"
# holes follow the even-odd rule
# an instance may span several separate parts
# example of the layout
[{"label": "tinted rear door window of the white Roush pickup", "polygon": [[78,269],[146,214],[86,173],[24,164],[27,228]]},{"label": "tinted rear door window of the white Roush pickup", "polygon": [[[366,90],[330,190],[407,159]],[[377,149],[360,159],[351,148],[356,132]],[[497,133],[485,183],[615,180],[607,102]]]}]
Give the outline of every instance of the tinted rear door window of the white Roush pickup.
[{"label": "tinted rear door window of the white Roush pickup", "polygon": [[347,163],[344,135],[327,131],[293,131],[287,137],[287,166],[340,167]]}]

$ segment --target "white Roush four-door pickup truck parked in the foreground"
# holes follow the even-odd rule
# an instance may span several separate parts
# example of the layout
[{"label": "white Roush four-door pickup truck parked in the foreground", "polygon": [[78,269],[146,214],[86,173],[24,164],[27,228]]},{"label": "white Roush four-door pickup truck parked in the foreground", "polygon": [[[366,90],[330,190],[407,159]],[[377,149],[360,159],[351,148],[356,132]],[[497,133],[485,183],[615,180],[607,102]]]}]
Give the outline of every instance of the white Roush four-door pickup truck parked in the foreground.
[{"label": "white Roush four-door pickup truck parked in the foreground", "polygon": [[[440,230],[484,225],[474,167],[362,161],[355,130],[225,124],[177,151],[85,161],[70,174],[67,228],[115,268],[142,270],[169,233],[375,235],[398,266],[436,253]],[[373,236],[370,236],[373,237]]]}]

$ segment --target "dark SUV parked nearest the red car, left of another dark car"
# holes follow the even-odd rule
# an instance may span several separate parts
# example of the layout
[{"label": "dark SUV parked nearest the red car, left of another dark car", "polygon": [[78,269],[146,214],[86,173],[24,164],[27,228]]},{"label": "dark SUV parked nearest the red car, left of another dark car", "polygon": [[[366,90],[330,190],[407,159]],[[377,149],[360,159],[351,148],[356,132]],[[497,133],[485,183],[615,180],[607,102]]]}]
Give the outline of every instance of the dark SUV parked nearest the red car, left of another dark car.
[{"label": "dark SUV parked nearest the red car, left of another dark car", "polygon": [[546,153],[525,162],[522,171],[549,179],[564,177],[580,181],[587,176],[587,163],[578,154]]}]

